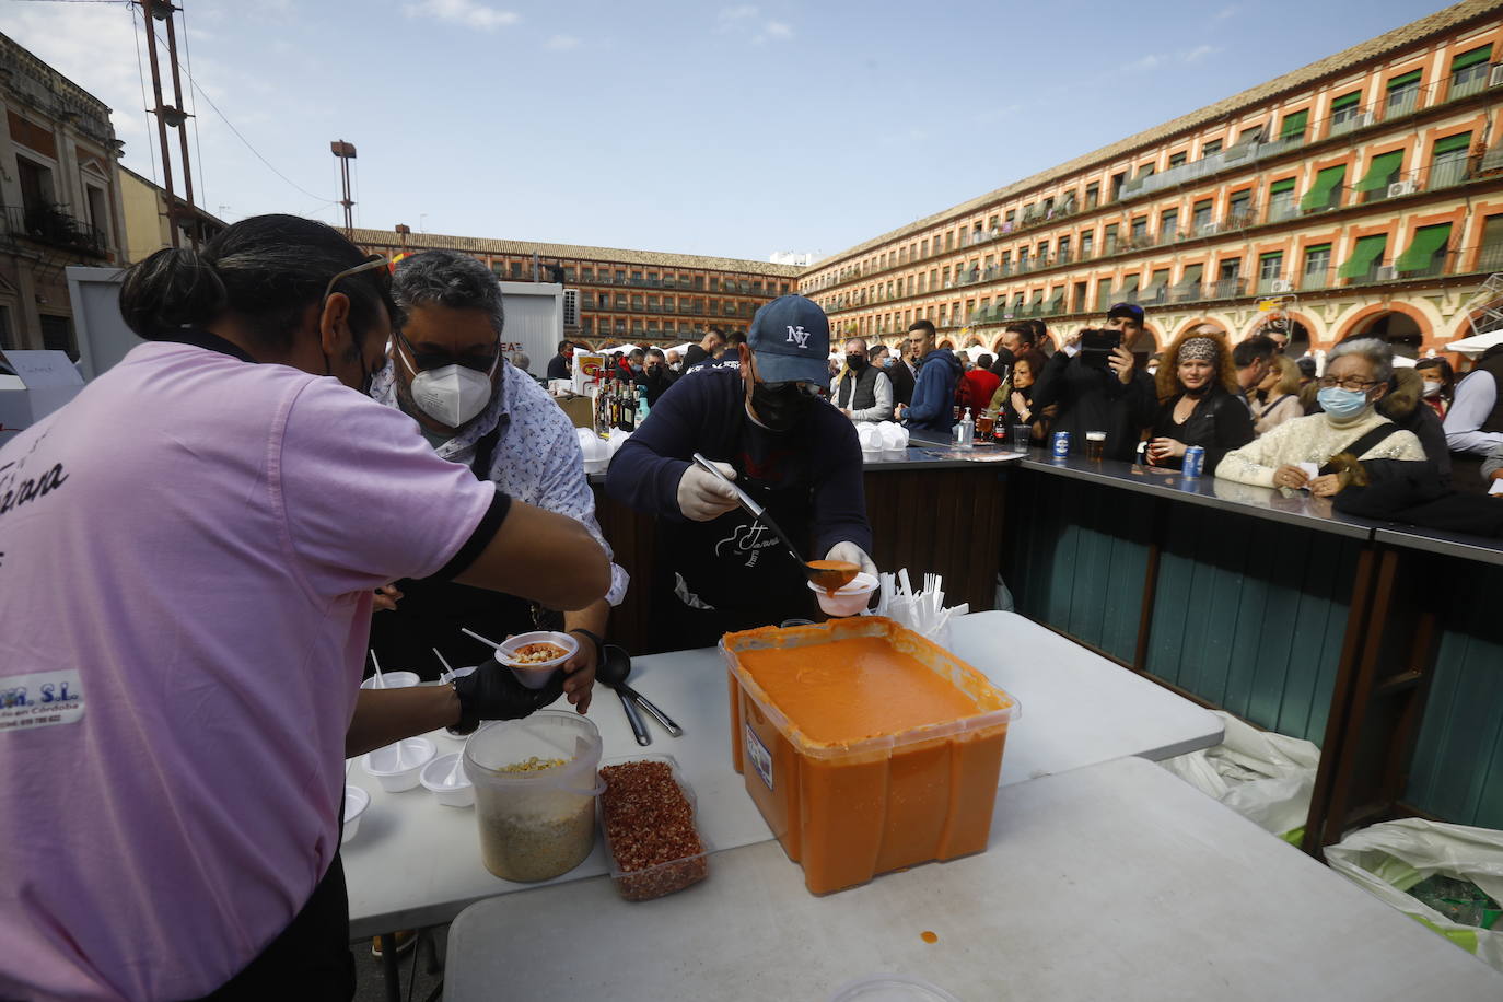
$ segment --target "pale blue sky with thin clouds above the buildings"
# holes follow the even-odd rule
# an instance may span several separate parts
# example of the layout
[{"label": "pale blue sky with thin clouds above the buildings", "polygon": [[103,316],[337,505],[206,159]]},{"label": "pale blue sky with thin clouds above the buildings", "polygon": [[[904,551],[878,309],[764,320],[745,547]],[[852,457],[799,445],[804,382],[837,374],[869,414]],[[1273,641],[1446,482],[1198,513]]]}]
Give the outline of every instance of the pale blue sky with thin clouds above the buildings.
[{"label": "pale blue sky with thin clouds above the buildings", "polygon": [[[343,138],[356,225],[748,260],[836,254],[1441,9],[177,3],[195,195],[224,219],[340,222]],[[0,32],[108,104],[122,162],[161,177],[138,8],[0,0]]]}]

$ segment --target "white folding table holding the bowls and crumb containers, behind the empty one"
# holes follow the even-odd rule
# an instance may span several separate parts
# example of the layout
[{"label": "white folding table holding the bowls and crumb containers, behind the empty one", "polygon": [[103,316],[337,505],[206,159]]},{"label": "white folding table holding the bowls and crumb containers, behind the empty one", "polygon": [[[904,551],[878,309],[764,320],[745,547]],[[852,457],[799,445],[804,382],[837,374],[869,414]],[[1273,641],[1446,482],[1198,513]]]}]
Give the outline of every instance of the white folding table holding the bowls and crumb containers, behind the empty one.
[{"label": "white folding table holding the bowls and crumb containers, behind the empty one", "polygon": [[[1165,759],[1208,748],[1222,724],[1189,700],[1013,613],[975,613],[951,623],[957,655],[1022,705],[1003,753],[1003,784],[1124,756]],[[703,834],[717,849],[773,835],[730,768],[726,665],[718,650],[681,650],[633,661],[631,682],[684,727],[666,736],[648,721],[654,744],[639,748],[610,690],[597,685],[589,718],[606,759],[639,751],[678,759],[699,801]],[[430,735],[439,753],[461,742]],[[356,765],[350,783],[371,795],[355,838],[344,846],[350,939],[446,922],[481,898],[534,885],[491,876],[481,864],[475,813],[440,807],[418,787],[385,793]],[[558,882],[606,873],[595,852]]]}]

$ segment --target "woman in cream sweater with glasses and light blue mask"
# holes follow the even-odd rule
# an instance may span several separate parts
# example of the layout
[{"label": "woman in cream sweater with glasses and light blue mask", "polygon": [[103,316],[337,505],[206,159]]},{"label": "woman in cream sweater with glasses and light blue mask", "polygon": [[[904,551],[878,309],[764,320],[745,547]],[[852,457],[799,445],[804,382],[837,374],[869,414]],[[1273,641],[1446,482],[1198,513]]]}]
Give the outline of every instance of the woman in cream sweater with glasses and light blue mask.
[{"label": "woman in cream sweater with glasses and light blue mask", "polygon": [[[1345,487],[1348,476],[1332,464],[1333,457],[1350,454],[1363,461],[1423,463],[1419,439],[1375,409],[1392,376],[1393,355],[1383,341],[1362,338],[1338,344],[1327,358],[1317,394],[1323,413],[1285,421],[1261,439],[1232,449],[1217,464],[1216,476],[1260,487],[1309,488],[1317,497],[1330,497]],[[1317,470],[1314,476],[1309,466]]]}]

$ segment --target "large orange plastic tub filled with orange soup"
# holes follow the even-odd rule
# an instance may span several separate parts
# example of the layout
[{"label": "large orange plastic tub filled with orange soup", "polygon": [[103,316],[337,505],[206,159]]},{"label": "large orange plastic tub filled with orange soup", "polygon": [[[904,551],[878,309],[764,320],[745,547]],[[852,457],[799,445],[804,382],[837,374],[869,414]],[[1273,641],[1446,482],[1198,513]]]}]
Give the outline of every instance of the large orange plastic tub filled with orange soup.
[{"label": "large orange plastic tub filled with orange soup", "polygon": [[[986,849],[1016,711],[986,676],[876,616],[726,634],[720,647],[732,763],[813,894]],[[852,718],[863,705],[915,718],[932,705],[935,718],[882,729],[893,715],[878,712],[870,730]]]}]

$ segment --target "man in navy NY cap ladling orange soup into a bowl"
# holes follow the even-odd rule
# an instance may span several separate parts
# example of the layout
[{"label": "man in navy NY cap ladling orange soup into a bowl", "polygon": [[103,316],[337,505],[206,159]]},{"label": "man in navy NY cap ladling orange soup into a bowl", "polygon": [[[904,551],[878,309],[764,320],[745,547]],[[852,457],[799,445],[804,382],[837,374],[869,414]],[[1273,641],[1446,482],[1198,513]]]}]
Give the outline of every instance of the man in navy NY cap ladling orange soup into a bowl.
[{"label": "man in navy NY cap ladling orange soup into a bowl", "polygon": [[854,425],[819,395],[830,321],[812,300],[758,309],[747,343],[685,373],[610,463],[606,491],[658,517],[651,646],[711,646],[732,629],[813,619],[803,568],[693,463],[714,461],[809,559],[876,568]]}]

